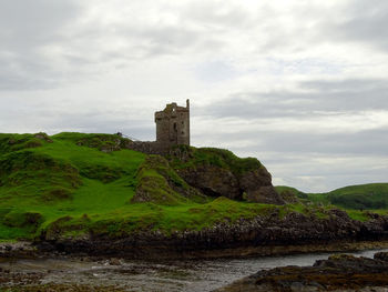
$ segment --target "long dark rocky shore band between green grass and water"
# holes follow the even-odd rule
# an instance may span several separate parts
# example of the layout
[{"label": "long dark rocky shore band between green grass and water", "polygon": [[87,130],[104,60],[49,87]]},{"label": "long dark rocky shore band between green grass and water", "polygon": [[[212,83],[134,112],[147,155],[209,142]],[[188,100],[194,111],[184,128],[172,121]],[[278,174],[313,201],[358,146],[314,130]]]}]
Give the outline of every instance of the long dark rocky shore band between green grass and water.
[{"label": "long dark rocky shore band between green grass and water", "polygon": [[[223,251],[226,251],[224,255],[234,256],[249,253],[270,254],[270,250],[274,251],[277,246],[280,246],[278,249],[280,253],[282,249],[287,253],[289,246],[298,245],[295,252],[303,251],[305,245],[325,246],[330,243],[336,243],[339,249],[339,242],[371,239],[388,239],[387,217],[359,222],[338,210],[328,211],[325,219],[294,212],[282,217],[274,211],[252,220],[241,219],[234,224],[222,222],[200,231],[175,231],[171,234],[144,230],[121,238],[90,233],[84,239],[61,238],[60,234],[49,239],[42,233],[39,246],[69,253],[119,254],[130,258],[195,258],[222,256]],[[237,252],[229,253],[231,250]]]}]

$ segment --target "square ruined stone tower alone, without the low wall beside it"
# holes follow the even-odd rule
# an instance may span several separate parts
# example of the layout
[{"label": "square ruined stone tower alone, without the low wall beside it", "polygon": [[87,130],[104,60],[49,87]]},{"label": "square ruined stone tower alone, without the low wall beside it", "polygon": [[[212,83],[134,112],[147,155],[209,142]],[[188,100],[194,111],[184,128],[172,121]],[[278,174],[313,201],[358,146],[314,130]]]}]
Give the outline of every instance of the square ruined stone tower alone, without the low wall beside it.
[{"label": "square ruined stone tower alone, without the low wall beside it", "polygon": [[156,143],[164,147],[190,145],[190,101],[186,107],[170,103],[163,111],[155,112]]}]

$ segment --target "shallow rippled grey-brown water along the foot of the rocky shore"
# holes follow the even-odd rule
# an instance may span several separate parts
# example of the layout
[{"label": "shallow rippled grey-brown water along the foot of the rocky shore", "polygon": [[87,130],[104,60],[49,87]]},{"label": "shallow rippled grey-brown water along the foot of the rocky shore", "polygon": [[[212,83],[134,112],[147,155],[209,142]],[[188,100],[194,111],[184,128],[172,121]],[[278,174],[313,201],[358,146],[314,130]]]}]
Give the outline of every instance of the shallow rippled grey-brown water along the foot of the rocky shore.
[{"label": "shallow rippled grey-brown water along the foot of the rocky shore", "polygon": [[[367,250],[351,254],[372,258],[377,251]],[[205,292],[224,286],[258,270],[284,265],[312,265],[331,253],[312,253],[251,259],[183,260],[183,261],[127,261],[82,259],[16,260],[0,262],[0,268],[43,273],[39,283],[78,283],[113,285],[127,291],[193,291]]]}]

